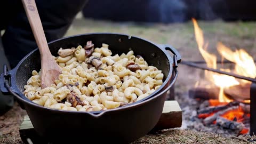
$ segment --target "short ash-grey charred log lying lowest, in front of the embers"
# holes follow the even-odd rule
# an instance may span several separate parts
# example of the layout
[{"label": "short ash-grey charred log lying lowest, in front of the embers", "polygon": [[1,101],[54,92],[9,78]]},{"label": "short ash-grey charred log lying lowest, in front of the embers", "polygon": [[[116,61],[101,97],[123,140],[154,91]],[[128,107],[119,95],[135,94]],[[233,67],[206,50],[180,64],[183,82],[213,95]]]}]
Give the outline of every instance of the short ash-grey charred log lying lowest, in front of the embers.
[{"label": "short ash-grey charred log lying lowest, in front of the embers", "polygon": [[216,124],[230,130],[239,130],[242,131],[244,128],[243,123],[235,122],[235,121],[230,121],[226,118],[223,118],[221,116],[218,116],[216,119]]}]

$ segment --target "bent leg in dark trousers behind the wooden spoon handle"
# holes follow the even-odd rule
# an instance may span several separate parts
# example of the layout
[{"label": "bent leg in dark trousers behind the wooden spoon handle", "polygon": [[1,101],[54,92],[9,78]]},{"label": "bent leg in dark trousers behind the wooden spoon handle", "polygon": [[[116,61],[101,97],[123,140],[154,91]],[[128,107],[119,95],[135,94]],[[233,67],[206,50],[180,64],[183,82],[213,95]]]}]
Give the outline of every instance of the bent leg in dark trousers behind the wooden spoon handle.
[{"label": "bent leg in dark trousers behind the wooden spoon handle", "polygon": [[[87,0],[36,1],[47,42],[63,37],[76,14],[83,9],[86,3]],[[10,20],[3,35],[5,54],[12,68],[37,47],[21,1],[19,5],[17,17]]]}]

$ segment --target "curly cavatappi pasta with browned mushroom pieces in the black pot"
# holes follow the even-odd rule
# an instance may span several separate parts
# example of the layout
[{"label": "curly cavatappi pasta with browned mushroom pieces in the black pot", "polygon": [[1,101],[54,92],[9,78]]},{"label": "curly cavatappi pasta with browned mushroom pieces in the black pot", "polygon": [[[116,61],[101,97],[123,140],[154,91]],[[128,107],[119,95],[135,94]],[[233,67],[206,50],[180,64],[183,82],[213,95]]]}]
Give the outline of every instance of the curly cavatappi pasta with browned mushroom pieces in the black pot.
[{"label": "curly cavatappi pasta with browned mushroom pieces in the black pot", "polygon": [[163,73],[133,51],[113,54],[108,44],[58,51],[55,61],[62,74],[55,84],[41,89],[41,71],[32,71],[23,94],[38,105],[53,109],[98,111],[141,100],[163,84]]}]

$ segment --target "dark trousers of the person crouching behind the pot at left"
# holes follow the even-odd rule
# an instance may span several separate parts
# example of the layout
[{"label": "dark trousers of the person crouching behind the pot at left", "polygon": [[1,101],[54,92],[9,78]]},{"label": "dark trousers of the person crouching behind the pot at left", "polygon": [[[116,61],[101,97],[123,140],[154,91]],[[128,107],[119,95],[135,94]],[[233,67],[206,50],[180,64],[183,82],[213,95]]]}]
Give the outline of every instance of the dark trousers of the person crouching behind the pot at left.
[{"label": "dark trousers of the person crouching behind the pot at left", "polygon": [[[36,0],[47,42],[65,35],[87,1]],[[20,0],[1,1],[0,17],[0,29],[5,30],[2,35],[3,45],[0,44],[0,73],[3,73],[4,63],[9,62],[9,69],[14,68],[26,54],[37,48],[37,44]],[[4,114],[12,105],[13,97],[0,93],[0,114]]]}]

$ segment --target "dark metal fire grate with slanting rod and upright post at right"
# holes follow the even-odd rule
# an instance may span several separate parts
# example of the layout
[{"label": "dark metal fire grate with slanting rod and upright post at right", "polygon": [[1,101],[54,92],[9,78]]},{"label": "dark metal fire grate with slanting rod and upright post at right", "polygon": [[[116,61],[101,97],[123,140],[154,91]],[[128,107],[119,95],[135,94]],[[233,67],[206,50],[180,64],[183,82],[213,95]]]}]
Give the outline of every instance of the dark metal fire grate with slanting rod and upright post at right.
[{"label": "dark metal fire grate with slanting rod and upright post at right", "polygon": [[[198,65],[200,63],[205,63],[204,61],[182,61],[181,64],[183,65],[187,65],[190,67],[194,67],[194,68],[199,68],[199,69],[203,69],[203,70],[209,70],[209,71],[213,71],[215,73],[219,73],[219,74],[223,74],[223,75],[229,75],[229,76],[233,76],[239,79],[244,79],[246,81],[250,81],[251,83],[251,87],[250,87],[250,134],[254,135],[256,134],[256,78],[251,78],[251,77],[245,77],[245,76],[241,76],[241,75],[237,75],[234,73],[229,73],[226,71],[222,71],[219,69],[213,69],[213,68],[208,68],[205,66],[201,66]],[[221,62],[217,62],[217,63],[221,63]],[[225,61],[223,63],[230,63],[230,61]]]}]

